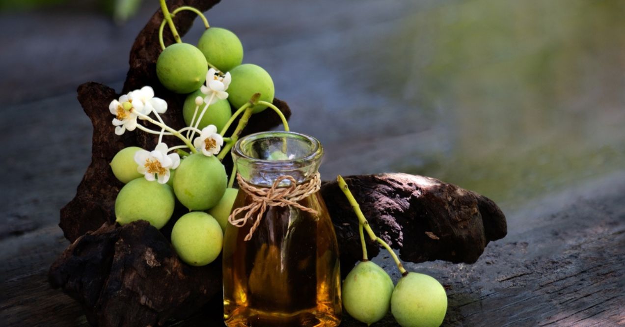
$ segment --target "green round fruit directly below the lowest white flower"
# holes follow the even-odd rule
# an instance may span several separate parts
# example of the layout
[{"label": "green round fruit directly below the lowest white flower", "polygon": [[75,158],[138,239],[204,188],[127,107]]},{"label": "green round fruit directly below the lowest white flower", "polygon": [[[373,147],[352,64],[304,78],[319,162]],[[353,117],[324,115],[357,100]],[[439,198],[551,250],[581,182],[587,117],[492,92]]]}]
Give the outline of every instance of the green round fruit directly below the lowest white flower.
[{"label": "green round fruit directly below the lowest white flower", "polygon": [[174,213],[176,199],[167,184],[137,178],[119,191],[115,200],[116,221],[125,225],[137,220],[147,220],[161,229]]}]

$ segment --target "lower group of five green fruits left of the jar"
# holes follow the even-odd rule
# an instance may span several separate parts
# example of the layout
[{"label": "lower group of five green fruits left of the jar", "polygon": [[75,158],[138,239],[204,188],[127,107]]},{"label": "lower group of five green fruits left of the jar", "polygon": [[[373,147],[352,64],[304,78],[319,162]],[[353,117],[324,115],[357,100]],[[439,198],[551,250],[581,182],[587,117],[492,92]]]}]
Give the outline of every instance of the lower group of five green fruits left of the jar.
[{"label": "lower group of five green fruits left of the jar", "polygon": [[215,156],[191,154],[172,171],[168,183],[148,181],[138,173],[136,146],[119,151],[111,161],[113,174],[126,183],[115,201],[119,224],[139,219],[160,229],[174,213],[176,199],[191,211],[176,221],[171,242],[187,264],[203,266],[221,253],[223,233],[237,189],[226,188],[224,166]]}]

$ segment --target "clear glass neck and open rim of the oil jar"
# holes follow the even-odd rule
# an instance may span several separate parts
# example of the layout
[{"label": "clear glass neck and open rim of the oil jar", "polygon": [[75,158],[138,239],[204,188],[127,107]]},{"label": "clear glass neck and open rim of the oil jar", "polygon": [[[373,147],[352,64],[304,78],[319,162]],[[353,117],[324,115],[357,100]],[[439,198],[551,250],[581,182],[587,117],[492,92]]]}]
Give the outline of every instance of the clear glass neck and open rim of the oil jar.
[{"label": "clear glass neck and open rim of the oil jar", "polygon": [[[237,172],[247,183],[271,187],[280,176],[289,175],[297,184],[317,174],[323,148],[312,136],[270,131],[250,134],[232,148]],[[289,186],[284,179],[279,187]]]}]

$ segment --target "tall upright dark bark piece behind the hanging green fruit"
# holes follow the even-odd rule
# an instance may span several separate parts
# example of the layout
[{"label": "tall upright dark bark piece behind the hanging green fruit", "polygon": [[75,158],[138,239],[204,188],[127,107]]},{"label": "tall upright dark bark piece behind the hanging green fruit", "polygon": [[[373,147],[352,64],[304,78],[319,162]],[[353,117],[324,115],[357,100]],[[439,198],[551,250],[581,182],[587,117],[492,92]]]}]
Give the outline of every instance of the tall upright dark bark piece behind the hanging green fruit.
[{"label": "tall upright dark bark piece behind the hanging green fruit", "polygon": [[[175,0],[168,1],[170,11],[179,6],[195,6],[201,11],[206,11],[216,0]],[[139,89],[149,85],[154,88],[157,97],[163,98],[168,103],[168,110],[161,117],[168,126],[174,129],[184,127],[183,103],[185,95],[174,94],[163,88],[156,76],[156,59],[161,53],[158,41],[158,29],[163,15],[160,9],[152,16],[148,24],[143,28],[134,42],[130,54],[130,69],[124,83],[123,93],[133,89]],[[182,35],[191,27],[195,14],[183,11],[176,14],[174,22],[178,26],[178,32]],[[168,29],[166,29],[168,31]],[[173,42],[171,33],[164,34],[166,44]],[[94,231],[103,223],[115,221],[114,203],[119,189],[124,185],[113,175],[109,163],[119,150],[127,146],[139,146],[144,149],[153,149],[158,142],[158,136],[144,133],[136,129],[126,131],[122,136],[114,133],[111,124],[113,115],[109,113],[109,103],[119,98],[114,89],[103,84],[85,83],[78,88],[78,100],[91,123],[93,124],[93,148],[91,164],[78,186],[76,196],[63,209],[61,209],[61,221],[59,226],[63,229],[65,238],[74,241],[79,236]],[[289,106],[284,101],[274,99],[273,103],[282,111],[288,119],[291,116]],[[149,126],[146,121],[139,120],[140,124]],[[281,119],[272,110],[265,110],[254,114],[249,124],[242,131],[242,135],[268,130],[281,124]],[[233,124],[234,129],[236,123]],[[178,138],[167,136],[165,141],[169,146],[182,144]],[[232,161],[228,155],[223,161],[226,171],[232,167]]]}]

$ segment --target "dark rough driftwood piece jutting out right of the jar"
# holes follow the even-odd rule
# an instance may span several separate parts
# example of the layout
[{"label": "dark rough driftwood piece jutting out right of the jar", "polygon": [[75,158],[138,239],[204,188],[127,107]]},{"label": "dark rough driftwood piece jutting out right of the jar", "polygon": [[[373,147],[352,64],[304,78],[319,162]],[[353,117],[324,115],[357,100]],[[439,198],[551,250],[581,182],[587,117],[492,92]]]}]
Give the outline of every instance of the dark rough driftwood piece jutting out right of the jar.
[{"label": "dark rough driftwood piece jutting out right of the jar", "polygon": [[[506,217],[491,199],[435,178],[389,173],[345,181],[371,228],[399,257],[414,263],[474,263],[489,241],[506,236]],[[346,274],[362,257],[358,219],[336,181],[321,193],[334,223]],[[379,246],[369,241],[370,257]]]}]

